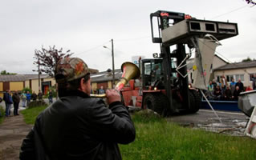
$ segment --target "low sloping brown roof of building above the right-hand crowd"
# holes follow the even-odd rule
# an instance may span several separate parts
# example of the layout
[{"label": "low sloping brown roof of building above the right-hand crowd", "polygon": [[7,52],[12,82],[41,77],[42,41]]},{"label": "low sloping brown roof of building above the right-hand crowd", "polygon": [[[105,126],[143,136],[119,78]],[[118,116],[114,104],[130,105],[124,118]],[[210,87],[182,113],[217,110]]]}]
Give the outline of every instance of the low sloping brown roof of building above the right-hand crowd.
[{"label": "low sloping brown roof of building above the right-hand crowd", "polygon": [[234,63],[226,64],[224,66],[220,66],[215,70],[236,70],[236,69],[251,68],[251,67],[256,67],[256,60],[249,61],[249,62],[234,62]]}]

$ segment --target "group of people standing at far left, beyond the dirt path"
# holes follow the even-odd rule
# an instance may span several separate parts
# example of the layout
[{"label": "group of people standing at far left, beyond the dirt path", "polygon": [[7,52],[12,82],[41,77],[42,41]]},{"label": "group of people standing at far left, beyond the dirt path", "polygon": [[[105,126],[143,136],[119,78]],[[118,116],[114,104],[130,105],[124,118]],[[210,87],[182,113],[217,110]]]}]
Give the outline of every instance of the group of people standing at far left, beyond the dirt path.
[{"label": "group of people standing at far left, beyond the dirt path", "polygon": [[[50,104],[53,102],[52,98],[53,98],[52,90],[49,90],[48,99]],[[35,91],[33,91],[33,93],[30,94],[30,91],[23,90],[22,93],[19,94],[18,91],[15,90],[14,93],[11,94],[10,90],[6,90],[6,92],[3,94],[3,98],[1,99],[5,102],[5,105],[6,105],[5,116],[9,117],[10,108],[12,107],[12,105],[14,106],[14,116],[19,115],[18,114],[19,102],[22,101],[22,107],[26,108],[26,106],[28,106],[30,101],[36,101],[37,99],[39,99],[39,101],[42,101],[43,93],[41,92],[41,90],[39,90],[39,94],[35,94]]]}]

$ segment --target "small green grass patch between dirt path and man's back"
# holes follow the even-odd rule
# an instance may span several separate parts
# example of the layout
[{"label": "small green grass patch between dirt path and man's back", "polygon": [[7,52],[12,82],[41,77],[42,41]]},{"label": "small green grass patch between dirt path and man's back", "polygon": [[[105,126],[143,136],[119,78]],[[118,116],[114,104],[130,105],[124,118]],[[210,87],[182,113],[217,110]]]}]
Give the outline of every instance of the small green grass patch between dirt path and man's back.
[{"label": "small green grass patch between dirt path and man's back", "polygon": [[37,106],[20,112],[23,114],[26,124],[34,124],[35,118],[46,108],[47,106]]}]

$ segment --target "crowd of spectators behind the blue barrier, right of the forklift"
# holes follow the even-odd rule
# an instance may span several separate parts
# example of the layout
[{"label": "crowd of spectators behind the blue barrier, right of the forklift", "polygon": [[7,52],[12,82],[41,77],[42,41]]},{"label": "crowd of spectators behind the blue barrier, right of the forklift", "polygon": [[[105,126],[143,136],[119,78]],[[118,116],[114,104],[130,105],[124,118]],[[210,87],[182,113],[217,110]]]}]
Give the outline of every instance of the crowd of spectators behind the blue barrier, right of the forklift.
[{"label": "crowd of spectators behind the blue barrier, right of the forklift", "polygon": [[252,78],[252,86],[244,86],[241,82],[241,78],[238,78],[238,82],[232,79],[232,82],[228,83],[224,75],[221,76],[219,82],[215,82],[213,79],[209,82],[207,96],[209,100],[224,100],[224,101],[238,101],[238,95],[244,91],[256,90],[256,74]]}]

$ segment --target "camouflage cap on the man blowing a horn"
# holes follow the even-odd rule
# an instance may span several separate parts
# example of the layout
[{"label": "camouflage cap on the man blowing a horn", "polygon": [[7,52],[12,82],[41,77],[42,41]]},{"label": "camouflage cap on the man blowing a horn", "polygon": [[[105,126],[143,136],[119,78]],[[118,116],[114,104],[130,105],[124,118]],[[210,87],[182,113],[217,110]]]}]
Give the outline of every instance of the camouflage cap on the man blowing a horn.
[{"label": "camouflage cap on the man blowing a horn", "polygon": [[90,73],[88,66],[80,58],[62,58],[55,68],[55,79],[57,83],[70,82],[83,78]]}]

